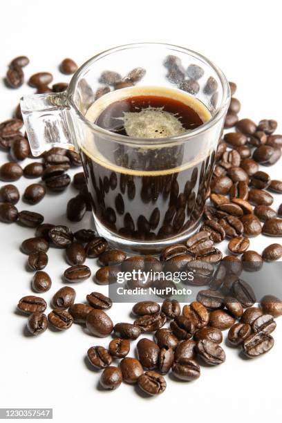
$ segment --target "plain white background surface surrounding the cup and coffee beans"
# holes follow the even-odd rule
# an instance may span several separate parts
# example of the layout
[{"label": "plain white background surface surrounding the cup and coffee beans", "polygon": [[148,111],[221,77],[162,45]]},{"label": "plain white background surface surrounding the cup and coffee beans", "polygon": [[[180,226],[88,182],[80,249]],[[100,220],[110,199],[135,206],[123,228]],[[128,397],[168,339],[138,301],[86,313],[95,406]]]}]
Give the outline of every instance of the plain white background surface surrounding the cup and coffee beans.
[{"label": "plain white background surface surrounding the cup and coffee beans", "polygon": [[[281,121],[281,8],[280,1],[2,1],[0,25],[0,75],[17,55],[28,55],[26,77],[37,71],[51,71],[55,82],[68,81],[57,66],[64,57],[80,65],[105,48],[138,41],[160,41],[186,46],[203,53],[223,69],[229,80],[238,84],[237,96],[243,106],[241,118]],[[0,83],[0,122],[10,118],[23,93],[32,92],[26,84],[8,90]],[[277,133],[281,133],[281,124]],[[0,152],[1,164],[7,160]],[[25,163],[26,164],[26,163]],[[270,172],[281,177],[281,162]],[[21,178],[23,189],[31,183]],[[72,188],[62,196],[48,194],[39,205],[18,203],[19,209],[34,209],[46,216],[46,223],[64,223],[66,202]],[[273,205],[281,203],[277,196]],[[83,223],[90,227],[90,214]],[[108,339],[87,335],[73,325],[64,333],[48,330],[39,337],[26,336],[26,317],[15,312],[17,301],[30,290],[32,273],[26,272],[26,256],[19,252],[32,229],[0,224],[1,248],[1,407],[49,407],[55,422],[122,420],[124,423],[151,422],[156,418],[216,422],[235,422],[255,418],[273,420],[281,414],[282,322],[274,334],[270,353],[246,361],[238,351],[225,348],[227,360],[216,368],[202,368],[193,383],[175,382],[166,377],[167,390],[160,397],[144,399],[133,386],[122,384],[113,392],[97,390],[99,373],[84,362],[91,345],[104,345]],[[281,241],[281,240],[280,240]],[[252,239],[251,249],[259,252],[273,241],[261,236]],[[63,252],[49,250],[46,270],[53,288],[44,294],[50,301],[63,286],[67,267]],[[93,274],[95,262],[87,261]],[[265,281],[267,282],[267,281]],[[92,279],[75,286],[77,302],[102,289]],[[48,308],[49,310],[49,308]],[[47,311],[48,311],[47,310]],[[130,321],[129,306],[114,305],[114,323]],[[280,332],[280,334],[279,334]],[[224,345],[224,344],[223,344]],[[134,349],[131,348],[131,355]],[[280,373],[280,376],[279,376]],[[276,388],[275,388],[276,385]],[[134,416],[133,416],[134,413]]]}]

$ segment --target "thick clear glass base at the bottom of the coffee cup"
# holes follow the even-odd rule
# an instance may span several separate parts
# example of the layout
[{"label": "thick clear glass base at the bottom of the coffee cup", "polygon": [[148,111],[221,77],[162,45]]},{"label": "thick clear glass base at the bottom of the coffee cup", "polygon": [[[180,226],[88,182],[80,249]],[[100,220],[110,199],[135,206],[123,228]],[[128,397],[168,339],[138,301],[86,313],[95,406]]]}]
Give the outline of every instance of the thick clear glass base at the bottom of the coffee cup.
[{"label": "thick clear glass base at the bottom of the coffee cup", "polygon": [[135,241],[128,238],[122,238],[114,232],[101,225],[100,221],[94,216],[95,227],[99,236],[102,236],[109,242],[111,247],[118,248],[129,255],[140,254],[140,255],[158,255],[165,247],[173,244],[185,243],[187,238],[198,230],[202,216],[194,223],[193,226],[189,227],[187,231],[182,234],[171,236],[165,240],[154,240],[154,241]]}]

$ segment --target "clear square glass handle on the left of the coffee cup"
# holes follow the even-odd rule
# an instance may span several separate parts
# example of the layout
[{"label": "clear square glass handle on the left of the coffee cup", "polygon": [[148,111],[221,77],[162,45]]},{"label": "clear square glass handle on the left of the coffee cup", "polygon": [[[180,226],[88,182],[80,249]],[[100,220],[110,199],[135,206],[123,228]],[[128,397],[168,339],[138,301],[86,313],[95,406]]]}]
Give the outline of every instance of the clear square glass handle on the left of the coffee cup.
[{"label": "clear square glass handle on the left of the coffee cup", "polygon": [[66,93],[24,95],[20,104],[33,156],[51,147],[75,148]]}]

